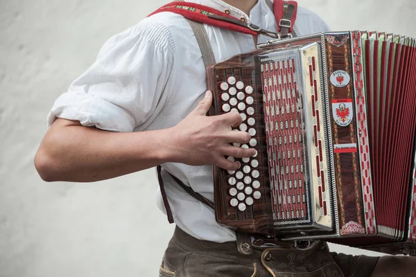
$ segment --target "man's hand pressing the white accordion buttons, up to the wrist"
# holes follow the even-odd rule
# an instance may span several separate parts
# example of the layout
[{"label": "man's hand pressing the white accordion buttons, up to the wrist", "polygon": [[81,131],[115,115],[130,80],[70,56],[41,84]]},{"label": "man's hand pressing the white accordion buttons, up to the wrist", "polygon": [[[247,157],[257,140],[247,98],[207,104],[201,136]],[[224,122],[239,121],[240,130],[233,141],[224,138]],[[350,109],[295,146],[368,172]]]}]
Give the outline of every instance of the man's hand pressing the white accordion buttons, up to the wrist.
[{"label": "man's hand pressing the white accordion buttons, up to the wrist", "polygon": [[254,149],[235,147],[232,143],[248,143],[250,134],[232,130],[238,127],[242,118],[237,112],[220,116],[206,116],[212,103],[212,93],[207,91],[205,98],[189,116],[172,128],[171,151],[173,159],[191,166],[213,165],[225,170],[236,170],[240,164],[229,161],[234,158],[252,157]]}]

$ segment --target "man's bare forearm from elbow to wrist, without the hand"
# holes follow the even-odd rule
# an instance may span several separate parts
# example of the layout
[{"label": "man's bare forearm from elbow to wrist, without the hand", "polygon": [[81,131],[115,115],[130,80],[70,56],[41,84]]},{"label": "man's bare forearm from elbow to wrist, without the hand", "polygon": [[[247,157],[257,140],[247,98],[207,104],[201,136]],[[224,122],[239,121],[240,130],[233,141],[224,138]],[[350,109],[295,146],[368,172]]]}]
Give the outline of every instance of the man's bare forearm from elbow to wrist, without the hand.
[{"label": "man's bare forearm from elbow to wrist, without the hand", "polygon": [[166,162],[170,129],[116,133],[58,119],[44,137],[35,166],[45,181],[101,181]]}]

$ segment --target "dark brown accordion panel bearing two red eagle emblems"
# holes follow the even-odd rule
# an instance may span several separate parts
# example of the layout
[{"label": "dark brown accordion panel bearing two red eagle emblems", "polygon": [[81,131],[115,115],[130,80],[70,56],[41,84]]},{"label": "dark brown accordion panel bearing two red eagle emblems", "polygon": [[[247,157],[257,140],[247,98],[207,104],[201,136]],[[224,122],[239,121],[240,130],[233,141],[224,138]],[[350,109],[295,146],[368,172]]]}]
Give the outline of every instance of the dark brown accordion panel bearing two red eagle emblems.
[{"label": "dark brown accordion panel bearing two red eagle emblems", "polygon": [[[354,80],[349,33],[326,35],[329,107],[340,235],[365,234],[361,164],[358,153]],[[363,154],[365,161],[370,159]]]}]

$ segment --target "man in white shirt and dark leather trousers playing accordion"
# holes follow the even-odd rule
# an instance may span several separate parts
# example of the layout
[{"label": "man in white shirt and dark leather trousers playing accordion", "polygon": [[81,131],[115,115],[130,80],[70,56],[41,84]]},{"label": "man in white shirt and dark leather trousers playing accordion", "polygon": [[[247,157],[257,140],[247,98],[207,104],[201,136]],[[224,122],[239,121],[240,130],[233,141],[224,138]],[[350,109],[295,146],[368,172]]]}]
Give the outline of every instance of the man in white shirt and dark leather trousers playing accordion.
[{"label": "man in white shirt and dark leather trousers playing accordion", "polygon": [[[266,0],[189,2],[277,30]],[[205,29],[217,62],[255,48],[251,35]],[[328,27],[299,8],[294,30],[307,35]],[[162,164],[213,201],[212,166],[235,170],[239,165],[225,156],[252,157],[254,150],[230,145],[250,140],[248,133],[229,129],[241,124],[239,114],[205,116],[212,102],[206,89],[205,66],[188,21],[168,12],[148,17],[106,42],[92,67],[55,101],[35,166],[45,181],[86,182]],[[236,249],[236,233],[219,226],[211,208],[185,193],[170,175],[163,179],[177,229],[160,276],[370,276],[378,262],[332,257],[323,242],[306,249],[261,245],[243,256]],[[159,207],[164,211],[162,199]],[[410,265],[406,261],[401,260],[404,267]],[[382,272],[386,264],[379,264],[376,271]]]}]

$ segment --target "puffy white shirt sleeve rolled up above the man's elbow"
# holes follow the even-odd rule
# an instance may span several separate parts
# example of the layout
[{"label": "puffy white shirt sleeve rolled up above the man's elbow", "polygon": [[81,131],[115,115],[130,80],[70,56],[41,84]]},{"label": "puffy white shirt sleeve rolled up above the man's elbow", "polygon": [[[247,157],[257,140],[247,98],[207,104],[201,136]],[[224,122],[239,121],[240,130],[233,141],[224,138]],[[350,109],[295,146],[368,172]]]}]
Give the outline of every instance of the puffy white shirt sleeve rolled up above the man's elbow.
[{"label": "puffy white shirt sleeve rolled up above the man's elbow", "polygon": [[115,132],[132,132],[160,111],[175,47],[162,24],[143,23],[109,39],[96,62],[49,112],[56,118]]}]

